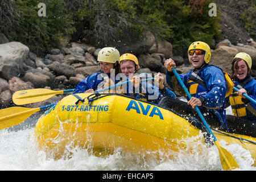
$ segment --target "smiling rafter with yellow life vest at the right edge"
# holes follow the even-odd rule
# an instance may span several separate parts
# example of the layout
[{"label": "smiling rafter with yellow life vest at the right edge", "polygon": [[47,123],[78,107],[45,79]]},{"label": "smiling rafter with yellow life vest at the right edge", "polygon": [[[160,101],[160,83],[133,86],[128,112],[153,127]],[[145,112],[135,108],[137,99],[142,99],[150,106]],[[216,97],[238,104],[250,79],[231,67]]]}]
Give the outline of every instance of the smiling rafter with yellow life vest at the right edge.
[{"label": "smiling rafter with yellow life vest at the right edge", "polygon": [[232,60],[232,78],[239,90],[229,97],[233,115],[226,115],[226,120],[233,133],[256,137],[256,104],[242,96],[245,93],[256,100],[256,80],[250,76],[251,65],[251,57],[245,52],[237,53]]}]

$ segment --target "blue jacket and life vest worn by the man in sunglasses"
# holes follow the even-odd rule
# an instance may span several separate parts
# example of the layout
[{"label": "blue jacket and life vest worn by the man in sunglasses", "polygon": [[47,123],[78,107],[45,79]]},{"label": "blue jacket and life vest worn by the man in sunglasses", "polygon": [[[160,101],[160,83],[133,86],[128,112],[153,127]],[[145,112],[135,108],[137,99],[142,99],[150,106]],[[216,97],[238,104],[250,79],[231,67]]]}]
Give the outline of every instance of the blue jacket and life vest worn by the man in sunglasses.
[{"label": "blue jacket and life vest worn by the man in sunglasses", "polygon": [[[207,64],[201,69],[195,69],[179,76],[192,97],[204,97],[205,105],[200,107],[207,108],[217,116],[222,126],[226,126],[225,94],[227,85],[222,70],[214,65]],[[166,74],[166,80],[167,84],[174,88],[172,77],[168,73]],[[179,83],[177,85],[181,86]]]}]

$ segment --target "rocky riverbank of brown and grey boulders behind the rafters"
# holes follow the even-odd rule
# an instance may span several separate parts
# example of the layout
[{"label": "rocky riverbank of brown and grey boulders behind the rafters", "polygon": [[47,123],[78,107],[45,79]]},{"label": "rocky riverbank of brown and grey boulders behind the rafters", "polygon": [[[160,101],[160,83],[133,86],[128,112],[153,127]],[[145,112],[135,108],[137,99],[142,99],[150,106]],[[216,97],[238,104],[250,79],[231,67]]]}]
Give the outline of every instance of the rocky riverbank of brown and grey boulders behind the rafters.
[{"label": "rocky riverbank of brown and grey boulders behind the rafters", "polygon": [[[0,39],[1,40],[1,39]],[[4,40],[4,42],[3,42]],[[166,72],[164,61],[172,57],[176,61],[179,73],[192,69],[187,57],[172,54],[172,44],[166,41],[155,42],[154,36],[148,32],[139,44],[133,45],[129,52],[139,59],[139,72]],[[52,90],[72,89],[85,77],[98,71],[96,48],[85,43],[64,43],[59,48],[49,51],[44,57],[39,57],[19,42],[0,41],[0,107],[14,106],[12,95],[18,90],[48,88]],[[212,50],[211,64],[217,65],[223,71],[230,73],[231,60],[238,52],[246,52],[253,59],[253,72],[256,76],[256,43],[248,40],[247,44],[233,46],[229,40],[216,44]],[[121,49],[120,53],[125,53]],[[60,100],[63,95],[54,96],[48,101],[27,105],[31,107],[47,105]]]}]

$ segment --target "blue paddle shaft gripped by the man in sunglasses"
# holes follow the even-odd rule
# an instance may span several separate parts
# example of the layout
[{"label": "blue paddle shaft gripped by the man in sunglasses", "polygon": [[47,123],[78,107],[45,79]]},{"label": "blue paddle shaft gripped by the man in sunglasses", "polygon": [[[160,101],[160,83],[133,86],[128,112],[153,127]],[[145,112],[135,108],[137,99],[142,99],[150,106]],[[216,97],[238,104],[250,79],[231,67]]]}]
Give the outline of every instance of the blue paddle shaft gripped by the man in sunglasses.
[{"label": "blue paddle shaft gripped by the man in sunglasses", "polygon": [[[172,72],[174,72],[174,75],[176,76],[177,81],[179,81],[181,87],[183,88],[183,90],[185,91],[185,93],[187,94],[187,96],[188,96],[188,98],[189,98],[189,100],[190,100],[190,99],[192,98],[192,97],[191,97],[191,94],[188,92],[188,89],[185,87],[183,81],[180,79],[180,76],[179,76],[179,74],[176,72],[176,70],[175,70],[174,67],[172,67]],[[210,130],[210,127],[208,126],[207,121],[205,121],[203,114],[202,114],[201,111],[199,110],[199,107],[195,106],[195,109],[196,109],[197,114],[199,115],[199,117],[200,117],[201,120],[203,121],[204,126],[207,128],[208,132],[212,135],[214,142],[216,142],[217,139],[214,137],[214,135],[213,135],[213,133],[212,133],[212,130]]]}]

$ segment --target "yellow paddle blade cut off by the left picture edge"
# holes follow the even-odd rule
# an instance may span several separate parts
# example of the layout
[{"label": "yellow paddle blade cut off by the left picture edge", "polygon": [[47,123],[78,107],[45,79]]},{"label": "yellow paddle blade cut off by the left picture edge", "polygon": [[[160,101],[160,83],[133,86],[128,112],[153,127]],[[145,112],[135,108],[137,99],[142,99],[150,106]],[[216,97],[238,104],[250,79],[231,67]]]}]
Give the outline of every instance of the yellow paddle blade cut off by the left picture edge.
[{"label": "yellow paddle blade cut off by the left picture edge", "polygon": [[39,111],[38,108],[27,108],[27,107],[9,107],[0,110],[0,130],[6,129],[7,127],[18,125],[19,123],[26,120],[30,115]]}]

